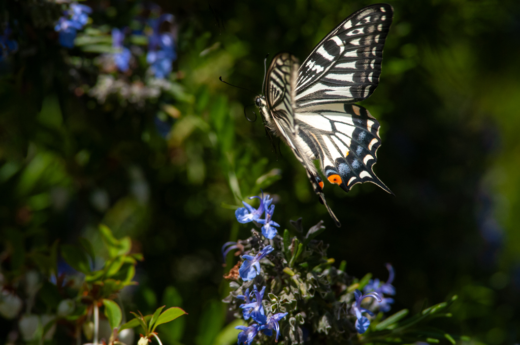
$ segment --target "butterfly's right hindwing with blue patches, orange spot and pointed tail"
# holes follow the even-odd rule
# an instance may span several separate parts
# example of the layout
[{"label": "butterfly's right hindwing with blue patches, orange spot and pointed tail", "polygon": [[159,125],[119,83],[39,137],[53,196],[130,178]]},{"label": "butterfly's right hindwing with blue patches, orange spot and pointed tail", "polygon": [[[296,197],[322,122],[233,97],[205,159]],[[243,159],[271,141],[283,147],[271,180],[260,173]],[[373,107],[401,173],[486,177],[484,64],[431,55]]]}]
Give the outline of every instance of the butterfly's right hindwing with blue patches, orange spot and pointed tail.
[{"label": "butterfly's right hindwing with blue patches, orange spot and pointed tail", "polygon": [[348,103],[313,108],[297,110],[296,141],[302,152],[320,161],[329,182],[346,192],[356,183],[372,182],[393,194],[372,170],[381,139],[379,122],[368,110]]}]

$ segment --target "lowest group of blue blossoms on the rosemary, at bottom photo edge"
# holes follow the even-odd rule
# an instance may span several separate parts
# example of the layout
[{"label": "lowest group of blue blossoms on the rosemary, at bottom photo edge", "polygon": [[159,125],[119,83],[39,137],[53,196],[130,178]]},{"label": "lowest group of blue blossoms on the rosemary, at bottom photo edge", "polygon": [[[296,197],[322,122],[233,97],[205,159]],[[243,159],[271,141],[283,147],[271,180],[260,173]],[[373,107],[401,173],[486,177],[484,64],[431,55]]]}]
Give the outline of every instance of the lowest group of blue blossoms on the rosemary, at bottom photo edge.
[{"label": "lowest group of blue blossoms on the rosemary, at bottom photo edge", "polygon": [[237,298],[242,299],[245,303],[240,304],[242,308],[244,320],[253,319],[256,323],[246,326],[236,326],[236,329],[242,330],[238,335],[238,343],[244,343],[250,345],[253,342],[254,337],[259,331],[262,331],[267,336],[272,336],[272,331],[276,332],[276,342],[280,335],[280,325],[278,322],[285,317],[288,313],[276,313],[269,316],[265,316],[264,307],[262,305],[262,298],[264,298],[265,286],[261,291],[258,291],[256,285],[253,285],[253,291],[251,295],[254,295],[251,300],[249,294],[249,288],[245,290],[245,295],[239,295]]}]

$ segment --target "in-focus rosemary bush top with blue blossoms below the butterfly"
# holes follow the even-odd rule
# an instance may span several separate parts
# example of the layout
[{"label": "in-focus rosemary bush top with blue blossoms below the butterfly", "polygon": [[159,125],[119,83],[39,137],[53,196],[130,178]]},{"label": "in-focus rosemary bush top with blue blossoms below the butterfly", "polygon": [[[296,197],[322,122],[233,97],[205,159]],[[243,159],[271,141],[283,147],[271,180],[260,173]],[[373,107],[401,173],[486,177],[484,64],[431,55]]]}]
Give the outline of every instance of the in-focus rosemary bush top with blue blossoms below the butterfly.
[{"label": "in-focus rosemary bush top with blue blossoms below the butterfly", "polygon": [[[293,344],[322,343],[320,334],[338,343],[348,342],[356,334],[370,334],[371,317],[388,311],[393,303],[392,298],[384,297],[395,295],[392,266],[386,265],[390,273],[386,283],[370,280],[368,275],[361,281],[350,277],[343,264],[336,269],[334,259],[327,258],[328,245],[315,240],[324,230],[323,222],[304,235],[301,219],[292,221],[293,236],[289,230],[280,236],[275,228],[279,224],[272,221],[272,198],[263,193],[253,198],[259,200],[259,206],[243,203],[235,216],[240,223],[262,224],[263,236],[251,230],[253,235],[246,240],[222,247],[224,261],[232,250],[241,259],[225,276],[231,280],[232,291],[224,300],[236,317],[248,321],[248,325],[236,327],[241,330],[238,343],[263,344],[257,335],[270,336],[273,331],[276,341],[282,336],[283,343]],[[282,319],[289,323],[280,329]],[[309,334],[315,336],[309,338]]]}]

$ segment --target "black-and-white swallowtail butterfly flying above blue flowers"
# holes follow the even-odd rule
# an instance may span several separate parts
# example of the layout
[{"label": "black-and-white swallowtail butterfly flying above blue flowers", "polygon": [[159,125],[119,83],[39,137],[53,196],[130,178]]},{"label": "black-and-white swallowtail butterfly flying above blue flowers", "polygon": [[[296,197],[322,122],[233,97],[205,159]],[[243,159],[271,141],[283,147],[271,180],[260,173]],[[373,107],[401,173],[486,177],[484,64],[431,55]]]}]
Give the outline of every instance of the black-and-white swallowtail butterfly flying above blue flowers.
[{"label": "black-and-white swallowtail butterfly flying above blue flowers", "polygon": [[346,192],[357,183],[372,182],[393,194],[372,170],[381,145],[379,122],[355,104],[378,86],[393,12],[388,4],[354,12],[301,65],[289,52],[279,53],[267,69],[263,96],[255,100],[266,127],[302,163],[337,227],[341,223],[325,200],[314,160],[327,180]]}]

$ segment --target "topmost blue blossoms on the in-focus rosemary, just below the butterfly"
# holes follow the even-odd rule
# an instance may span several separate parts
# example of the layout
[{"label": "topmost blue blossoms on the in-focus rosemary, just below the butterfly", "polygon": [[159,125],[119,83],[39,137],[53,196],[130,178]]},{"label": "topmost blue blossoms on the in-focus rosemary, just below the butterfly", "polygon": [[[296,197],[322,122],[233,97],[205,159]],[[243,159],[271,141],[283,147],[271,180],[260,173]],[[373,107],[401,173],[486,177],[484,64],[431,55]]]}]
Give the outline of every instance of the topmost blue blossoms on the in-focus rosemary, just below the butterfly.
[{"label": "topmost blue blossoms on the in-focus rosemary, just below the butterfly", "polygon": [[[275,227],[279,227],[280,225],[271,220],[272,214],[275,212],[275,205],[271,205],[272,198],[269,197],[269,194],[264,196],[262,192],[262,197],[259,196],[251,196],[249,199],[257,198],[260,200],[260,206],[258,208],[254,208],[253,206],[242,202],[245,207],[240,207],[235,211],[235,217],[240,223],[249,223],[252,221],[256,221],[257,223],[264,224],[262,227],[262,235],[265,238],[269,238],[271,240],[278,234],[278,230]],[[270,207],[269,207],[270,205]],[[262,214],[265,211],[265,218],[260,219]]]}]

